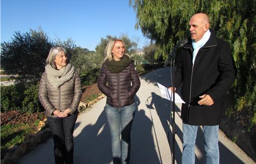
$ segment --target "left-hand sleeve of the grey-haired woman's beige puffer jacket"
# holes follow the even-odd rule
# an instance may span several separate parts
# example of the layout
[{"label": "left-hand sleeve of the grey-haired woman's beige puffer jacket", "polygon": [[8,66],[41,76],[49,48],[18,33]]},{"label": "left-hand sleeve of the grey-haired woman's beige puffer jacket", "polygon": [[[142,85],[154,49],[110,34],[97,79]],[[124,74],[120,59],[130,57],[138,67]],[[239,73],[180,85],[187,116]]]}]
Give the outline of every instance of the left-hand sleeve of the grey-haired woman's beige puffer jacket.
[{"label": "left-hand sleeve of the grey-haired woman's beige puffer jacket", "polygon": [[44,107],[47,115],[53,115],[53,112],[56,110],[53,105],[50,103],[50,100],[48,98],[48,91],[47,91],[47,86],[46,86],[46,78],[47,74],[43,73],[41,80],[40,80],[40,85],[39,85],[39,90],[38,90],[38,97],[39,100]]}]

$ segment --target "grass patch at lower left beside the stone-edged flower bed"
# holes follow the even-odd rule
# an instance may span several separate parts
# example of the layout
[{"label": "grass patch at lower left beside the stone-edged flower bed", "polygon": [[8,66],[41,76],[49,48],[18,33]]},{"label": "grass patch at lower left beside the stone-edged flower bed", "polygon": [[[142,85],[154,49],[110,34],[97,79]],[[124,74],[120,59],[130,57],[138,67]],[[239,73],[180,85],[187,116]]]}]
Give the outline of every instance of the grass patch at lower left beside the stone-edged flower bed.
[{"label": "grass patch at lower left beside the stone-edged flower bed", "polygon": [[21,145],[26,135],[34,134],[36,131],[33,128],[39,124],[39,121],[40,119],[36,119],[33,124],[22,123],[1,126],[1,158],[14,145]]}]

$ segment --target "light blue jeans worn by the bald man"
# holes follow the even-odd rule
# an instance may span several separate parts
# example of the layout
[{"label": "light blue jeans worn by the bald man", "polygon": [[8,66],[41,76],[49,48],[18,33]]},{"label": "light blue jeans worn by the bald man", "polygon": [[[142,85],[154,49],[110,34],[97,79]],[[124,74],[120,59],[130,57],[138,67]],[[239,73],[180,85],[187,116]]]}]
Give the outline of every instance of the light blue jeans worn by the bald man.
[{"label": "light blue jeans worn by the bald man", "polygon": [[[195,139],[198,126],[182,124],[183,131],[183,151],[182,164],[195,163]],[[219,163],[220,153],[218,150],[218,125],[203,126],[203,135],[205,139],[206,163]]]}]

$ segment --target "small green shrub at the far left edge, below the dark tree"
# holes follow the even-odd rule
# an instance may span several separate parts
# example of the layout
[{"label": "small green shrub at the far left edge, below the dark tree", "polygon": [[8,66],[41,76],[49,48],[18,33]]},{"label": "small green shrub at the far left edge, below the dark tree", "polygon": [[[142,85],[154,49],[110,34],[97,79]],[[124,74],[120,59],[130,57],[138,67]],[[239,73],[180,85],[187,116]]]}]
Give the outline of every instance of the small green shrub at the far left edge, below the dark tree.
[{"label": "small green shrub at the far left edge, below the dark tree", "polygon": [[21,94],[16,85],[1,86],[1,112],[10,111],[20,106]]}]

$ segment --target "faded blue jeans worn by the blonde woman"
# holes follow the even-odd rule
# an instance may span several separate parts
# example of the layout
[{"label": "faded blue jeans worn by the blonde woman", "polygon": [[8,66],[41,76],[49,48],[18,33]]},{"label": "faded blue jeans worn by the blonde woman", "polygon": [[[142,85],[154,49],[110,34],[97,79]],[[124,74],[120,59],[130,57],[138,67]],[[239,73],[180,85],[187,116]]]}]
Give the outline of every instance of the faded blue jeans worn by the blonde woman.
[{"label": "faded blue jeans worn by the blonde woman", "polygon": [[121,108],[114,108],[106,104],[104,109],[111,132],[113,162],[129,163],[135,104]]}]

